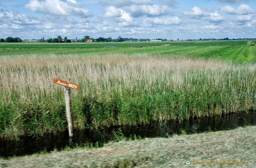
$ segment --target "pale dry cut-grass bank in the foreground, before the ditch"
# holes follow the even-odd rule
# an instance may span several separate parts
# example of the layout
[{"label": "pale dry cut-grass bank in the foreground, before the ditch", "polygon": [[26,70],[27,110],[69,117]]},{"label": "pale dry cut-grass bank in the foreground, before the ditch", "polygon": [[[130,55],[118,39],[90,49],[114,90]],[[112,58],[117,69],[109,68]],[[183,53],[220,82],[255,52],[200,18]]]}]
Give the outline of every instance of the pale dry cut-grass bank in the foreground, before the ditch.
[{"label": "pale dry cut-grass bank in the foreground, before the ditch", "polygon": [[0,167],[255,167],[256,126],[169,138],[119,141],[100,149],[1,160]]}]

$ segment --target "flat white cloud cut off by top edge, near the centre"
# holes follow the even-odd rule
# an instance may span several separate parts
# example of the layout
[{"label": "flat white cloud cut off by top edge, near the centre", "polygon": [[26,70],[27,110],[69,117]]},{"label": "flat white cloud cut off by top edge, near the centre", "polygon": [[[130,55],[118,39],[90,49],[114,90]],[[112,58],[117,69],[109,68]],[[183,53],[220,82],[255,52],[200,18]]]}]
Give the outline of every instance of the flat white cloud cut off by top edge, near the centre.
[{"label": "flat white cloud cut off by top edge, near the centre", "polygon": [[130,6],[134,5],[152,5],[151,0],[100,0],[103,5],[113,5],[113,6]]}]

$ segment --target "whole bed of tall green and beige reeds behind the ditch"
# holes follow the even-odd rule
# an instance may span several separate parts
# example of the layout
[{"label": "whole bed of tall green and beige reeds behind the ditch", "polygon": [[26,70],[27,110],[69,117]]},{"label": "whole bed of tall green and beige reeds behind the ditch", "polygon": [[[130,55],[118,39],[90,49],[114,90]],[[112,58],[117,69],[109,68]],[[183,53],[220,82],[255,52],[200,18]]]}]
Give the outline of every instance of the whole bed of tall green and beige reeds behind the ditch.
[{"label": "whole bed of tall green and beige reeds behind the ditch", "polygon": [[0,134],[65,130],[71,78],[76,129],[184,120],[255,110],[256,65],[149,54],[0,57]]}]

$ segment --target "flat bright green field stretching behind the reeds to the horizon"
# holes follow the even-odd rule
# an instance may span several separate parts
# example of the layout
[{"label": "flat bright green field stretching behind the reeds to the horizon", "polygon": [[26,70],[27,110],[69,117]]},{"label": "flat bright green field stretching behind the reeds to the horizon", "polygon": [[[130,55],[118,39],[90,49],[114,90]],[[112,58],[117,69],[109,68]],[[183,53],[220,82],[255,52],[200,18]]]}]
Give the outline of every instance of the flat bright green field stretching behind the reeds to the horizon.
[{"label": "flat bright green field stretching behind the reeds to the horizon", "polygon": [[[254,41],[255,42],[255,41]],[[255,47],[247,41],[197,42],[94,42],[94,43],[0,43],[0,55],[24,54],[168,54],[255,61]]]}]

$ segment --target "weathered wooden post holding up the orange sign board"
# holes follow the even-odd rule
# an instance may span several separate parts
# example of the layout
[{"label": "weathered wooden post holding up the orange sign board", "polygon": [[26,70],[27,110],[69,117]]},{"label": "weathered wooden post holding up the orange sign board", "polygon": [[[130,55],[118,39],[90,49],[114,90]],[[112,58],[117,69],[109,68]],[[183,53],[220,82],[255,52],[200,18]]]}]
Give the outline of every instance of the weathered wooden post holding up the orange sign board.
[{"label": "weathered wooden post holding up the orange sign board", "polygon": [[[64,81],[69,82],[69,78]],[[64,95],[65,95],[65,103],[66,103],[66,117],[68,120],[68,130],[69,137],[73,137],[73,121],[72,121],[72,113],[71,113],[71,91],[70,88],[64,86]]]}]

